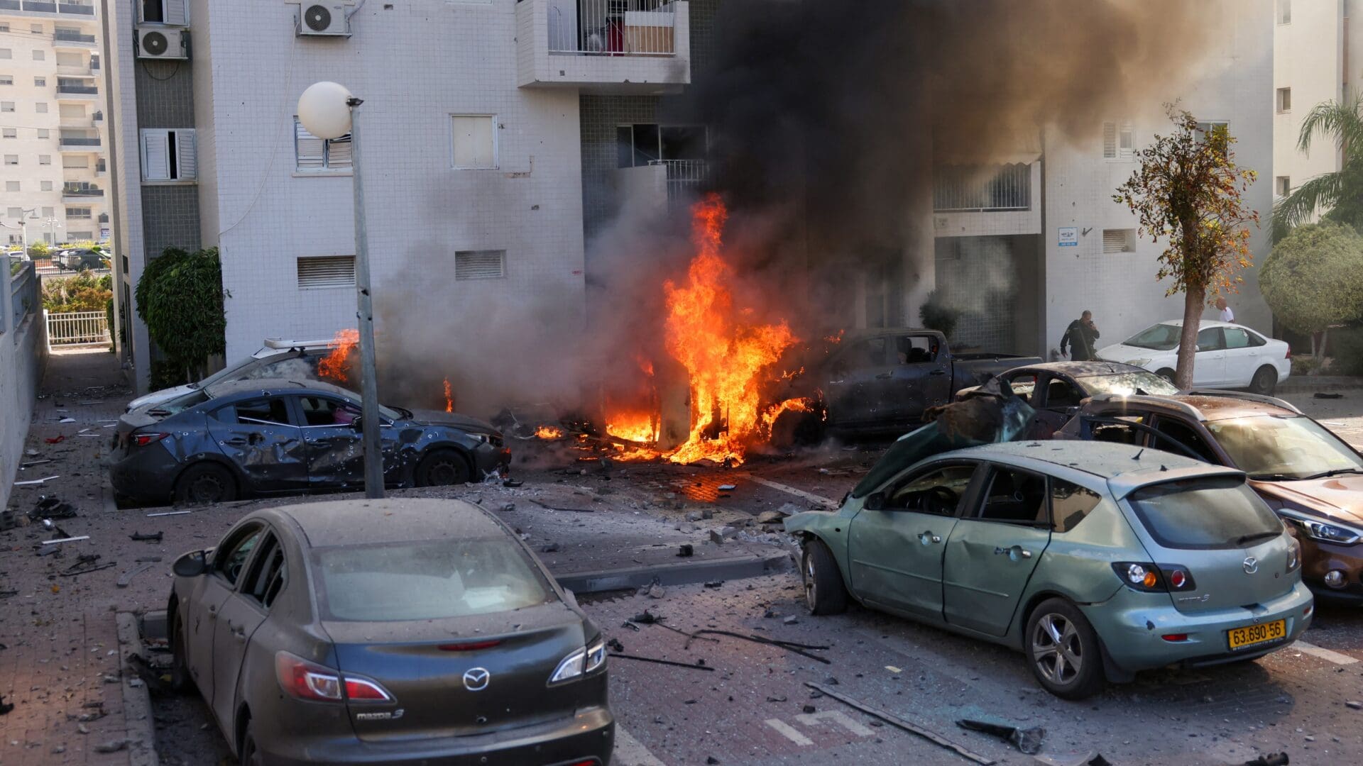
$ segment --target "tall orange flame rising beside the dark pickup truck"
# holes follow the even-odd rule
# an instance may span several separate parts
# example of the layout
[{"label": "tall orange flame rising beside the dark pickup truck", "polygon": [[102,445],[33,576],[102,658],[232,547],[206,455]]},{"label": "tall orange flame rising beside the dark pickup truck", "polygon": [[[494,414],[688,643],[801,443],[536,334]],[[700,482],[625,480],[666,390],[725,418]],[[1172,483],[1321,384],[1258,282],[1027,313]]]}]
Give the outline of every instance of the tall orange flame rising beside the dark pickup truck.
[{"label": "tall orange flame rising beside the dark pickup truck", "polygon": [[668,353],[691,380],[691,432],[665,457],[679,463],[709,458],[736,465],[746,446],[770,431],[761,412],[762,371],[797,339],[785,322],[750,324],[751,309],[735,309],[728,289],[733,269],[721,256],[728,210],[720,196],[707,195],[691,213],[699,252],[686,284],[664,285]]}]

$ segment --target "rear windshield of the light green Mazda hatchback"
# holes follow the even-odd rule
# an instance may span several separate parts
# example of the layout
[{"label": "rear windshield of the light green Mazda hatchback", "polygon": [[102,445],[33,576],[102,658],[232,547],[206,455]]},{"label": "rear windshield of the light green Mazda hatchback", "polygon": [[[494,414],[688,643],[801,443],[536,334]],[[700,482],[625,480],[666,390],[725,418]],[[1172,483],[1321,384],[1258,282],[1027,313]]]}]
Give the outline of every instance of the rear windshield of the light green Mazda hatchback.
[{"label": "rear windshield of the light green Mazda hatchback", "polygon": [[1127,502],[1165,548],[1246,548],[1283,534],[1283,522],[1240,477],[1156,484]]}]

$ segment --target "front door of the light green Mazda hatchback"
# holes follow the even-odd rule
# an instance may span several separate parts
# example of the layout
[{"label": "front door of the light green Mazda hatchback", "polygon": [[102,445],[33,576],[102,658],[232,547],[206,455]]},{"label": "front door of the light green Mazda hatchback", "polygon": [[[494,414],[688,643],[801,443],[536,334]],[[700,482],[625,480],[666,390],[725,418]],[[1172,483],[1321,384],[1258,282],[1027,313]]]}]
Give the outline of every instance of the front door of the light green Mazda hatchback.
[{"label": "front door of the light green Mazda hatchback", "polygon": [[859,598],[942,619],[943,541],[951,536],[977,466],[975,461],[938,463],[867,497],[848,529],[848,568]]}]

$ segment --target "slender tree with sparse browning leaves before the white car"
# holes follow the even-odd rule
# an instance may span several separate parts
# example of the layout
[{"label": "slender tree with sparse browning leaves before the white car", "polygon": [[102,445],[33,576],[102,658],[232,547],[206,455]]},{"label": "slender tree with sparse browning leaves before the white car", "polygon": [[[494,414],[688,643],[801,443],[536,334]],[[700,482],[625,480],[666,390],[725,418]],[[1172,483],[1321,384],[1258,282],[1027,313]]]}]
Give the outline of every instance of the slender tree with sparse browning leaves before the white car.
[{"label": "slender tree with sparse browning leaves before the white car", "polygon": [[1198,323],[1208,292],[1239,292],[1236,271],[1250,264],[1249,224],[1259,214],[1243,195],[1258,174],[1238,168],[1225,125],[1198,129],[1197,117],[1168,108],[1174,132],[1137,151],[1135,173],[1118,187],[1115,202],[1139,219],[1142,237],[1165,241],[1156,279],[1169,279],[1167,296],[1183,293],[1183,334],[1176,384],[1193,386]]}]

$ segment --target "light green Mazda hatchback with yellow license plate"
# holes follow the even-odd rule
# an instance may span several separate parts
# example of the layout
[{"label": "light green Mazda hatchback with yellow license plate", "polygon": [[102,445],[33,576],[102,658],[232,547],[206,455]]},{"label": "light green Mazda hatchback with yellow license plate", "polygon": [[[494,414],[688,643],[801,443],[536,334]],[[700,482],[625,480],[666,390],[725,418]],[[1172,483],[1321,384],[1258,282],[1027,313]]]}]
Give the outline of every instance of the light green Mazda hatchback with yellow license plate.
[{"label": "light green Mazda hatchback with yellow license plate", "polygon": [[1262,657],[1310,624],[1300,548],[1238,470],[1074,442],[904,462],[891,446],[838,511],[785,519],[814,615],[851,597],[1021,649],[1067,699]]}]

